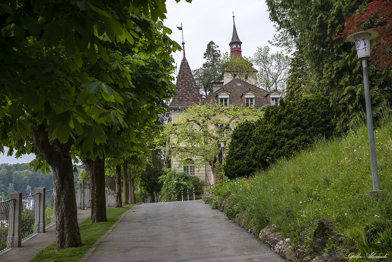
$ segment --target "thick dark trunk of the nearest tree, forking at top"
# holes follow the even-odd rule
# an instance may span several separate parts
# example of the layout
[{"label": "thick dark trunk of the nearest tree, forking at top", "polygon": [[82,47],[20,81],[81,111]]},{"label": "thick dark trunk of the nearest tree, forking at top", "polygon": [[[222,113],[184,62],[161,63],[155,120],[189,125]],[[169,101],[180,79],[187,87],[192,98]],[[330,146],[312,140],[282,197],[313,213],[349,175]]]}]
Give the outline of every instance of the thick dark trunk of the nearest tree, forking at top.
[{"label": "thick dark trunk of the nearest tree, forking at top", "polygon": [[46,125],[31,129],[34,145],[52,167],[54,215],[56,216],[56,249],[82,246],[76,210],[73,164],[69,150],[74,140],[69,137],[61,144],[57,139],[49,142]]}]

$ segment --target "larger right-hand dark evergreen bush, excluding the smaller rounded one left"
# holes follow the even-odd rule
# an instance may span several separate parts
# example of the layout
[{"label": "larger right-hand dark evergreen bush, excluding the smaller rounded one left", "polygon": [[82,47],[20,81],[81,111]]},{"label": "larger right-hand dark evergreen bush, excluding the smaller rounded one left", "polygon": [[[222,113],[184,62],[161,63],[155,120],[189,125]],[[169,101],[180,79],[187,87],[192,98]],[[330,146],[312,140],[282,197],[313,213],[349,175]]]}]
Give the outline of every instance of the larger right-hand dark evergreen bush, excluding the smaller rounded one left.
[{"label": "larger right-hand dark evergreen bush, excluding the smaller rounded one left", "polygon": [[320,95],[291,102],[282,100],[279,105],[269,106],[256,121],[252,137],[257,166],[267,167],[283,156],[290,156],[313,143],[316,137],[332,136],[333,118],[329,100]]}]

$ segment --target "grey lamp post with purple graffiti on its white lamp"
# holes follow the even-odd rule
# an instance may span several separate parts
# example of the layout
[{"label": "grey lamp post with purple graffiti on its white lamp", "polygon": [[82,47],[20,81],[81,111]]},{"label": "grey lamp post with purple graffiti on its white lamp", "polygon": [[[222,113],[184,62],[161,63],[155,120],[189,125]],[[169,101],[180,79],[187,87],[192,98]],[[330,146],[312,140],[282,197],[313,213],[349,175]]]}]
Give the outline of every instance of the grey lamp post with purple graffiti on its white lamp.
[{"label": "grey lamp post with purple graffiti on its white lamp", "polygon": [[372,108],[370,104],[367,60],[370,58],[370,40],[376,37],[378,37],[378,33],[375,31],[358,32],[349,35],[347,37],[347,41],[355,43],[358,59],[361,60],[362,62],[363,85],[365,88],[366,119],[367,119],[368,137],[369,137],[370,166],[372,168],[372,181],[373,181],[374,191],[377,191],[379,189],[379,183],[378,183],[378,171],[377,171],[377,159],[376,159],[376,144],[374,142]]}]

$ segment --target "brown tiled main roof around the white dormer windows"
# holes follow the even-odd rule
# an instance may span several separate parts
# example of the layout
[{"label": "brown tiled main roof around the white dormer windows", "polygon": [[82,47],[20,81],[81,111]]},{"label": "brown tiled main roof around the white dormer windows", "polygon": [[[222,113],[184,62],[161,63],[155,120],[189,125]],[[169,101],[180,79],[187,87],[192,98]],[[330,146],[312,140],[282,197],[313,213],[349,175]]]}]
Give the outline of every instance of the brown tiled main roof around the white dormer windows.
[{"label": "brown tiled main roof around the white dormer windows", "polygon": [[203,103],[209,103],[214,101],[218,103],[218,94],[223,91],[230,93],[229,104],[232,104],[234,106],[245,106],[245,99],[242,98],[242,95],[243,93],[246,93],[248,91],[252,91],[253,93],[255,93],[254,107],[260,108],[265,105],[271,105],[271,103],[267,99],[268,92],[266,90],[237,78],[233,79],[232,81],[228,82],[227,84],[213,92],[211,95],[207,96],[205,99],[203,99]]}]

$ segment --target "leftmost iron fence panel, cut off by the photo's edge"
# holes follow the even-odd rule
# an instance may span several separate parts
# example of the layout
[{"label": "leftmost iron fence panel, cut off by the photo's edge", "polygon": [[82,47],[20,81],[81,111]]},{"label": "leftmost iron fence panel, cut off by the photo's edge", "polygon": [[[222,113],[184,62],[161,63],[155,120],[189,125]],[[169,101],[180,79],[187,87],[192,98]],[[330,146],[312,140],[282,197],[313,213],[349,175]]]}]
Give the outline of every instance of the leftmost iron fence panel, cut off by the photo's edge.
[{"label": "leftmost iron fence panel, cut off by the photo's edge", "polygon": [[14,199],[0,202],[0,252],[13,246],[14,210]]}]

